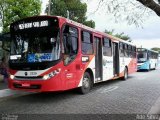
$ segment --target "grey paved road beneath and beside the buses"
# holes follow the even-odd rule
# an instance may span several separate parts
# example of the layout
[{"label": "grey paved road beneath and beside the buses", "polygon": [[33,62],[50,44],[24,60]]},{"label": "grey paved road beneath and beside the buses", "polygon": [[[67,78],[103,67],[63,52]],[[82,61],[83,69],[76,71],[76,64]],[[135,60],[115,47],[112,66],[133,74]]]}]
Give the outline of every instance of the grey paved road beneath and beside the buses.
[{"label": "grey paved road beneath and beside the buses", "polygon": [[[43,114],[43,116],[49,114],[51,118],[53,114],[58,114],[60,118],[64,114],[80,116],[103,114],[104,118],[114,116],[117,120],[121,115],[123,117],[129,115],[128,119],[148,119],[149,116],[146,114],[157,112],[154,110],[159,105],[157,104],[159,100],[160,69],[136,72],[126,81],[112,80],[96,84],[86,95],[80,95],[75,90],[71,90],[7,98],[0,101],[0,113],[3,115]],[[160,111],[155,114],[160,114]]]}]

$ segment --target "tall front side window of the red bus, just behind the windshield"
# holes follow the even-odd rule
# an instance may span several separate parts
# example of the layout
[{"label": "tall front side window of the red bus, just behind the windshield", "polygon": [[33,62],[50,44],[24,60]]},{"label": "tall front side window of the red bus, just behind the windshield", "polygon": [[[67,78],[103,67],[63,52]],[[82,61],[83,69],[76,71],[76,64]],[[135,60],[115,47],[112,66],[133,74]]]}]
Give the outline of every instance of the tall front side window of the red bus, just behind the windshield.
[{"label": "tall front side window of the red bus, just behind the windshield", "polygon": [[72,62],[78,53],[78,30],[69,25],[63,28],[64,64]]}]

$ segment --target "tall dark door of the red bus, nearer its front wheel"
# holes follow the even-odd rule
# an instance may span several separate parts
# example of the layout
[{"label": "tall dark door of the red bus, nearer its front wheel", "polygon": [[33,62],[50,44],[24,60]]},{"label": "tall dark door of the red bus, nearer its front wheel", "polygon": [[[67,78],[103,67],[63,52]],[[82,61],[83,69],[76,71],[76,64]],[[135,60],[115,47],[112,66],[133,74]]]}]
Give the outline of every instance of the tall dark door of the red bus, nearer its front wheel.
[{"label": "tall dark door of the red bus, nearer its front wheel", "polygon": [[94,45],[95,45],[95,81],[101,81],[102,78],[102,45],[101,38],[94,37]]}]

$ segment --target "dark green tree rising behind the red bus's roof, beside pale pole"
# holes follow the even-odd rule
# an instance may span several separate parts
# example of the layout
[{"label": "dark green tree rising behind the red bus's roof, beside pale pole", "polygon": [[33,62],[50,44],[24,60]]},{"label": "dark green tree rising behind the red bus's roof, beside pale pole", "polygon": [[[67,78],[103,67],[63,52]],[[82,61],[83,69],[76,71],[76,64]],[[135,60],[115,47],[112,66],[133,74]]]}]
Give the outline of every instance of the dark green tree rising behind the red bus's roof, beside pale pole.
[{"label": "dark green tree rising behind the red bus's roof, beside pale pole", "polygon": [[[48,6],[46,7],[46,13],[49,10]],[[67,12],[69,12],[69,19],[95,28],[93,20],[87,21],[87,4],[81,3],[80,0],[51,0],[50,12],[51,15],[63,17],[68,17]]]}]

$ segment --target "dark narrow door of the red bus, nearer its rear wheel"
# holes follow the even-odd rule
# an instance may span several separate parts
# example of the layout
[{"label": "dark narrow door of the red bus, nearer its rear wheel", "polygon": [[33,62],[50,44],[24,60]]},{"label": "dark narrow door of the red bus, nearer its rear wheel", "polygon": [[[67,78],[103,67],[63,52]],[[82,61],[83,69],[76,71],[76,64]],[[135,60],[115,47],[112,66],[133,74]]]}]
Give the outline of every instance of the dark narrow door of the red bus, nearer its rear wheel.
[{"label": "dark narrow door of the red bus, nearer its rear wheel", "polygon": [[115,77],[119,75],[119,48],[116,42],[113,42],[113,74]]}]

